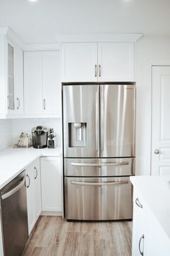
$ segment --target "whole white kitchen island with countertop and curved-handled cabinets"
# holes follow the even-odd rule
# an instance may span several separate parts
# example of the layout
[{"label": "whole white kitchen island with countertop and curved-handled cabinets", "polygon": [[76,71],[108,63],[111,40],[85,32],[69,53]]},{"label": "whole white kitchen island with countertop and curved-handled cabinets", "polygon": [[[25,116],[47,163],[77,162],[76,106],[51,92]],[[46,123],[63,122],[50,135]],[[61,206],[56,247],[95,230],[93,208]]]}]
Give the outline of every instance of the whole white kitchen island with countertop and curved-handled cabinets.
[{"label": "whole white kitchen island with countertop and curved-handled cabinets", "polygon": [[131,176],[133,256],[170,255],[170,176]]}]

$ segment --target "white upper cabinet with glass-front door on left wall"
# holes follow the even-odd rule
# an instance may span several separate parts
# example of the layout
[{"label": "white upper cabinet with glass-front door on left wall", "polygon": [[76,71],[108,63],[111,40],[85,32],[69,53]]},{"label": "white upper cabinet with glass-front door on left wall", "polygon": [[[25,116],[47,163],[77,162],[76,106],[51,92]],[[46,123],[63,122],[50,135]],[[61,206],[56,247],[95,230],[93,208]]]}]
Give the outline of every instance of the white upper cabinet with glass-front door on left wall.
[{"label": "white upper cabinet with glass-front door on left wall", "polygon": [[0,31],[0,117],[23,114],[23,51]]}]

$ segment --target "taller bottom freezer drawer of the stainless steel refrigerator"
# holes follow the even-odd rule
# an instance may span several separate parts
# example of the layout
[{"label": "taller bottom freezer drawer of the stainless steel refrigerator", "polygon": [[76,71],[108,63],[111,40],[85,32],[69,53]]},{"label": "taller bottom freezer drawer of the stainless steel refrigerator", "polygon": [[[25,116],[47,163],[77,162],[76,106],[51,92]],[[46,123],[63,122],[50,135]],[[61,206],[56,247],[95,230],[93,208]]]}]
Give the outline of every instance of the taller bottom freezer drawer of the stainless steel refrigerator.
[{"label": "taller bottom freezer drawer of the stainless steel refrigerator", "polygon": [[106,221],[131,219],[132,184],[117,178],[65,177],[65,218]]}]

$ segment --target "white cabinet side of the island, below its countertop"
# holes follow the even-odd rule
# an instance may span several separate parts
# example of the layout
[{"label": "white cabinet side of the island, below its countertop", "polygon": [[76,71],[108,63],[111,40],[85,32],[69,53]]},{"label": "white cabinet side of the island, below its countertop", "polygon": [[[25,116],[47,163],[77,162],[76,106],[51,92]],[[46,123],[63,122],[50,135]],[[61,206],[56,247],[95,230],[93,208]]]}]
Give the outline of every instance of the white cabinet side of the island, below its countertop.
[{"label": "white cabinet side of the island, below its countertop", "polygon": [[133,194],[133,256],[169,256],[170,242],[137,189]]}]

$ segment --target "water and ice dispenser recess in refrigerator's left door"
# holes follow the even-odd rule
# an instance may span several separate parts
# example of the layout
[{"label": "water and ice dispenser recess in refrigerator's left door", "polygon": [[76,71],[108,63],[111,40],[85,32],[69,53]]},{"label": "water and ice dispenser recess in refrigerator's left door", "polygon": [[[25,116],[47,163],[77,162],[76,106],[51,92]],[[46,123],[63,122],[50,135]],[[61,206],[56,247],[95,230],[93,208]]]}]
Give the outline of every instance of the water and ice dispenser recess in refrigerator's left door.
[{"label": "water and ice dispenser recess in refrigerator's left door", "polygon": [[68,123],[68,147],[84,148],[86,147],[86,123],[73,122]]}]

